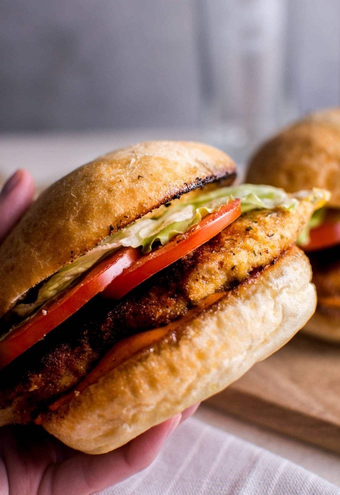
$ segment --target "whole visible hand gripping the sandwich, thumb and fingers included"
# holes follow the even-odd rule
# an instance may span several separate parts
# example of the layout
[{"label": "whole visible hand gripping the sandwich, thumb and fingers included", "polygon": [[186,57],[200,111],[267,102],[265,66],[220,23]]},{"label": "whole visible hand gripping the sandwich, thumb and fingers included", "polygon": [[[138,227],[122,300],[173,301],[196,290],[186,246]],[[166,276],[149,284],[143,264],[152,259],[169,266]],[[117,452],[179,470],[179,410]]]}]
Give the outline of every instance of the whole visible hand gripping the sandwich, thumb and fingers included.
[{"label": "whole visible hand gripping the sandwich, thumb and fingers included", "polygon": [[[0,242],[27,209],[33,179],[17,170],[0,193]],[[89,495],[147,467],[167,436],[198,405],[153,426],[126,445],[100,455],[73,450],[41,427],[0,429],[0,493],[9,495]]]}]

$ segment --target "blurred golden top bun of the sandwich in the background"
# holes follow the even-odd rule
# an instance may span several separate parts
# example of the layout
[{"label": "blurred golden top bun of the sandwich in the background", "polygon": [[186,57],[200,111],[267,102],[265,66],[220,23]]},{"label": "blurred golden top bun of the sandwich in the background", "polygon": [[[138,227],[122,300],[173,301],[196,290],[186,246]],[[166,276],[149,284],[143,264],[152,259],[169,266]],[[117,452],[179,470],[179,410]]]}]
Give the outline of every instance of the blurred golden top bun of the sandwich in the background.
[{"label": "blurred golden top bun of the sandwich in the background", "polygon": [[246,180],[288,192],[328,189],[329,205],[340,207],[340,108],[307,115],[265,142],[252,156]]}]

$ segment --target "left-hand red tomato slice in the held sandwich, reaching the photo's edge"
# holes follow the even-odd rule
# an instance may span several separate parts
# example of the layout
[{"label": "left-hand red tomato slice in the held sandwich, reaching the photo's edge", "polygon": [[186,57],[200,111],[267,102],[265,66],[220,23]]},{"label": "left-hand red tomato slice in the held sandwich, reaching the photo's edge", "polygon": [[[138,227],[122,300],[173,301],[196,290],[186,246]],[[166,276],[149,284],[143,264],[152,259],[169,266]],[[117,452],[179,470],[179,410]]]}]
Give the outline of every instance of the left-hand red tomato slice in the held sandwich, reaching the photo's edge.
[{"label": "left-hand red tomato slice in the held sandwich, reaching the photo's edge", "polygon": [[42,339],[103,290],[140,256],[138,249],[124,247],[95,265],[82,280],[63,291],[59,298],[44,304],[30,319],[0,341],[0,368]]}]

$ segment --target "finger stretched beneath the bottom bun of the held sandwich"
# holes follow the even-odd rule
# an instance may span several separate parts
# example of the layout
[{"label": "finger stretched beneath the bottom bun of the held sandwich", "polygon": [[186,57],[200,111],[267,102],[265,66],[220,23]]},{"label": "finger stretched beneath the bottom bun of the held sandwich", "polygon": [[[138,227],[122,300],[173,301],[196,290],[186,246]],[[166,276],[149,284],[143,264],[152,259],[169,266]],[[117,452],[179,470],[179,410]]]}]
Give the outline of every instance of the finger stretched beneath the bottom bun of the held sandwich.
[{"label": "finger stretched beneath the bottom bun of the held sandwich", "polygon": [[41,493],[89,495],[132,476],[153,461],[180,418],[181,414],[177,414],[112,452],[101,455],[77,453],[50,466],[41,480]]}]

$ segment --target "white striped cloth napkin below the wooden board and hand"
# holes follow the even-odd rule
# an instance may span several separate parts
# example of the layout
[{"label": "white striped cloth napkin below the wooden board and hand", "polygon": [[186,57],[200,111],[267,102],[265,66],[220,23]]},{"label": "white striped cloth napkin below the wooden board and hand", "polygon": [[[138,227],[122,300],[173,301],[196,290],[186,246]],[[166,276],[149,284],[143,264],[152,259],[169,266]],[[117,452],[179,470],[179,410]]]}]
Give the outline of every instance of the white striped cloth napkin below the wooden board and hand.
[{"label": "white striped cloth napkin below the wooden board and hand", "polygon": [[340,495],[340,488],[195,418],[144,471],[100,495]]}]

